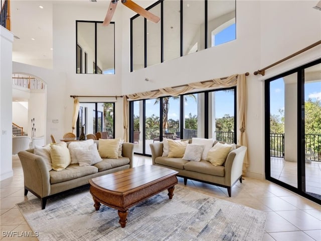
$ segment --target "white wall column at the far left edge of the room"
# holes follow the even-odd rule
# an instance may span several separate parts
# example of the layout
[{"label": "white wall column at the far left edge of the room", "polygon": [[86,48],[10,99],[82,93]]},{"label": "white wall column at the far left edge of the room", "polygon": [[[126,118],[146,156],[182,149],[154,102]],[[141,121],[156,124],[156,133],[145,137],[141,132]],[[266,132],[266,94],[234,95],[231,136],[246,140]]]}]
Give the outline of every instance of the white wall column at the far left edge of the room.
[{"label": "white wall column at the far left edge of the room", "polygon": [[12,42],[14,35],[0,26],[0,180],[12,170]]}]

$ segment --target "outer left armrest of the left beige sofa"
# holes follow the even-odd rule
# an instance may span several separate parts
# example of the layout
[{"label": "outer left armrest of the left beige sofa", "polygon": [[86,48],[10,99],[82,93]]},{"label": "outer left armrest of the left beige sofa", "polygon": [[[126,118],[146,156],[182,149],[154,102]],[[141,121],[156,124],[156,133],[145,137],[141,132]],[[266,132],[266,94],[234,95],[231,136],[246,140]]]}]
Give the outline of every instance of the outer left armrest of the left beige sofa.
[{"label": "outer left armrest of the left beige sofa", "polygon": [[40,155],[22,150],[18,153],[24,171],[25,187],[39,197],[50,195],[50,175]]}]

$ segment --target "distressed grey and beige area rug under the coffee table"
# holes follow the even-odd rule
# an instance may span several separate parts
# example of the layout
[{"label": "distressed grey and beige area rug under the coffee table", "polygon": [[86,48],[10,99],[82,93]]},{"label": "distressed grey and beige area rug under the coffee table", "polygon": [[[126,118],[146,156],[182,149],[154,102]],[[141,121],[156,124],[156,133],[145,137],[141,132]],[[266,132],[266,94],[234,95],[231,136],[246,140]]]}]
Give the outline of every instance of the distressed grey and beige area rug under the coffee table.
[{"label": "distressed grey and beige area rug under the coffee table", "polygon": [[117,210],[93,206],[89,188],[17,206],[39,240],[261,240],[267,214],[176,185],[173,199],[163,191],[128,211],[120,227]]}]

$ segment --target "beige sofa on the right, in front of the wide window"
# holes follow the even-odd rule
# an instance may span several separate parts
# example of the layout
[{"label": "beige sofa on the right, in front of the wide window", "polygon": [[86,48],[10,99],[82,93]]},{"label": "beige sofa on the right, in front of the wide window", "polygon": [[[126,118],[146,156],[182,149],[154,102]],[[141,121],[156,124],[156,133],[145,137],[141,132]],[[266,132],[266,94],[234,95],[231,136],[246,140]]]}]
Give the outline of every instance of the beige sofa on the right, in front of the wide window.
[{"label": "beige sofa on the right, in front of the wide window", "polygon": [[[189,143],[191,142],[192,140],[189,140]],[[185,185],[187,184],[187,179],[202,181],[226,187],[229,196],[231,196],[231,187],[238,180],[242,182],[243,160],[247,149],[245,146],[236,145],[236,148],[230,151],[225,163],[221,166],[214,166],[203,159],[201,161],[188,161],[181,157],[162,156],[163,142],[151,143],[150,149],[152,164],[179,171],[177,176],[184,177]]]}]

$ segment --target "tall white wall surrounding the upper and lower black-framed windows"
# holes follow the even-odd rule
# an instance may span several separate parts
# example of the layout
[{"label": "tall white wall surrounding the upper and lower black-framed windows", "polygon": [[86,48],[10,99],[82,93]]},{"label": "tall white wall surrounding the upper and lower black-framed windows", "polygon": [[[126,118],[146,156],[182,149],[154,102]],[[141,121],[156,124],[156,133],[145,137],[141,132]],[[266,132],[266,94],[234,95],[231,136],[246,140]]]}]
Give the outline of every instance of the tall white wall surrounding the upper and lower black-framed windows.
[{"label": "tall white wall surrounding the upper and lower black-framed windows", "polygon": [[[152,1],[137,1],[143,7]],[[102,20],[106,9],[54,3],[54,70],[14,68],[35,73],[48,83],[47,138],[60,138],[71,130],[73,99],[76,95],[121,95],[189,82],[250,72],[247,77],[247,134],[250,166],[247,175],[264,177],[264,88],[262,79],[283,72],[321,55],[315,47],[287,62],[253,75],[259,68],[321,39],[321,13],[316,1],[236,2],[237,39],[148,68],[129,72],[129,18],[134,12],[118,4],[115,21],[115,75],[76,74],[76,20]],[[28,69],[28,71],[27,71]],[[17,70],[18,71],[18,70]],[[21,70],[20,70],[21,71]],[[150,81],[144,81],[145,78]],[[122,136],[121,98],[115,106],[116,137]],[[59,119],[59,123],[52,123]]]}]

